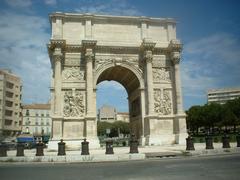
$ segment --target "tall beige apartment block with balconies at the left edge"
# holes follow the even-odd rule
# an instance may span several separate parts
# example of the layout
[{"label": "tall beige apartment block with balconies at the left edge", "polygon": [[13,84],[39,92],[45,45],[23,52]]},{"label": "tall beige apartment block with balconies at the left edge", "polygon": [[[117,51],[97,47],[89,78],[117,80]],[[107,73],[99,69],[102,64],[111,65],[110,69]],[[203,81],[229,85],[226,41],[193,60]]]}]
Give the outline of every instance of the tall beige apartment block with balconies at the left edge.
[{"label": "tall beige apartment block with balconies at the left edge", "polygon": [[0,70],[0,137],[15,136],[21,131],[20,77],[10,70]]}]

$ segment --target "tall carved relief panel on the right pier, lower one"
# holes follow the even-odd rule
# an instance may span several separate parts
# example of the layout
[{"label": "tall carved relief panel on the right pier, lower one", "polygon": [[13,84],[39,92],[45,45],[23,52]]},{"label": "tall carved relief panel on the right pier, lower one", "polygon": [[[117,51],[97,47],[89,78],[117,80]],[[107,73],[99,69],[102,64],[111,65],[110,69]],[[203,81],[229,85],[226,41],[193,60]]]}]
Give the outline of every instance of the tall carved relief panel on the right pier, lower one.
[{"label": "tall carved relief panel on the right pier, lower one", "polygon": [[154,91],[154,111],[158,115],[169,115],[172,113],[171,91],[158,89]]}]

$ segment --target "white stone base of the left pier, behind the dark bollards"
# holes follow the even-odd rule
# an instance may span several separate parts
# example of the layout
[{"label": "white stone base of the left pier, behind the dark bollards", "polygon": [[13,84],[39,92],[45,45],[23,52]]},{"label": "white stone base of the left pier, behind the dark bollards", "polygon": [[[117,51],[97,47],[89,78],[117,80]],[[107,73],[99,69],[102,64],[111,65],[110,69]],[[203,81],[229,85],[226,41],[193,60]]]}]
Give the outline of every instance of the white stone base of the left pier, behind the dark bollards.
[{"label": "white stone base of the left pier, behind the dark bollards", "polygon": [[[91,138],[87,139],[89,142],[89,149],[98,149],[100,148],[100,142],[98,138]],[[59,140],[50,140],[48,143],[48,150],[49,151],[57,151],[58,150],[58,143]],[[66,150],[81,150],[81,142],[83,139],[74,139],[74,140],[64,140],[63,142],[66,143]]]}]

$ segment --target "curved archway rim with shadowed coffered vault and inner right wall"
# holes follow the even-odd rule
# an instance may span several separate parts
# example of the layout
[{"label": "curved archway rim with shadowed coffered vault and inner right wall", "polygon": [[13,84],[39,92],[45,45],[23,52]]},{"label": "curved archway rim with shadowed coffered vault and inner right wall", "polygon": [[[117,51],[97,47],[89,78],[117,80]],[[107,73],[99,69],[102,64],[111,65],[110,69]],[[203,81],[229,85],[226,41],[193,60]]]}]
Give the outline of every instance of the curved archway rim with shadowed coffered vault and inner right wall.
[{"label": "curved archway rim with shadowed coffered vault and inner right wall", "polygon": [[96,71],[94,86],[104,80],[114,80],[124,86],[128,93],[130,129],[137,138],[143,135],[142,119],[145,113],[141,89],[144,88],[144,81],[140,70],[130,63],[108,63],[103,64]]}]

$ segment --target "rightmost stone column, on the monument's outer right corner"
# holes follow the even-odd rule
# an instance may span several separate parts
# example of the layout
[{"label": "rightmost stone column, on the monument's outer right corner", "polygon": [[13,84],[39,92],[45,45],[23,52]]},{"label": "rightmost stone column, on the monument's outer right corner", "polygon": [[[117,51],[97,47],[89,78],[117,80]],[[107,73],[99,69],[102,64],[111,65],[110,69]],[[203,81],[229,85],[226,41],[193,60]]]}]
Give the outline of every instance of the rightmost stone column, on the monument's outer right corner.
[{"label": "rightmost stone column, on the monument's outer right corner", "polygon": [[181,78],[180,78],[180,53],[172,52],[172,62],[174,64],[175,70],[175,88],[176,88],[176,114],[183,113],[183,104],[182,104],[182,87],[181,87]]}]

